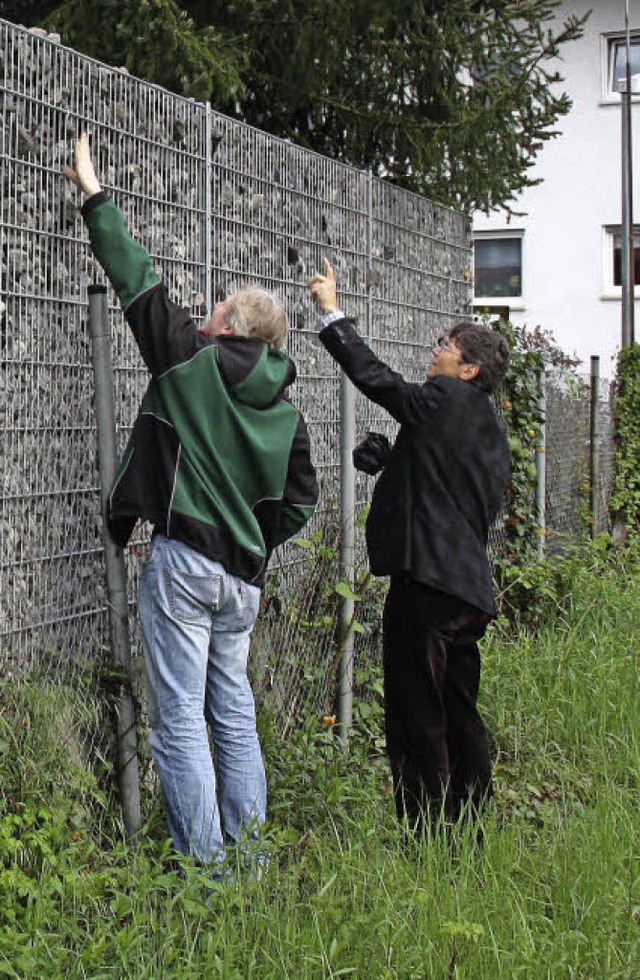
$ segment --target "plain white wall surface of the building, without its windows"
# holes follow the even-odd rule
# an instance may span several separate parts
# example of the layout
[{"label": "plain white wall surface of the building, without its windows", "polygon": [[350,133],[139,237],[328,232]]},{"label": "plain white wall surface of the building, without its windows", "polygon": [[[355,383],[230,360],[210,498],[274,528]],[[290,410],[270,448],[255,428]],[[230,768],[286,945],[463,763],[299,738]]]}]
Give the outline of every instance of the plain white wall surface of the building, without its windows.
[{"label": "plain white wall surface of the building, without its windows", "polygon": [[[562,135],[547,142],[531,171],[543,183],[512,205],[523,218],[498,212],[474,215],[474,231],[523,229],[522,302],[511,306],[519,325],[552,331],[567,353],[588,366],[601,357],[605,376],[613,374],[620,344],[620,290],[606,289],[610,257],[605,226],[621,223],[621,113],[619,100],[606,101],[606,45],[603,37],[624,31],[624,0],[570,0],[561,19],[591,9],[584,37],[565,45],[559,69],[572,99]],[[629,2],[631,29],[640,29],[640,0]],[[634,138],[634,218],[640,214],[640,102],[632,107]],[[638,290],[636,291],[638,292]],[[612,296],[613,293],[617,295]],[[518,306],[520,308],[518,308]],[[640,303],[636,302],[636,337]]]}]

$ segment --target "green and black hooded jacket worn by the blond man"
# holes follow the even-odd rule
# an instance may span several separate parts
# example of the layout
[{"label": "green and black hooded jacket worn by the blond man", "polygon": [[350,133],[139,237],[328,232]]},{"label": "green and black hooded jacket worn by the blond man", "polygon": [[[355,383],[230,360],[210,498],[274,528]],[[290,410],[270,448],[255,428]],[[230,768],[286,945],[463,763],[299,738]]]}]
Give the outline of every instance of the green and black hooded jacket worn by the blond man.
[{"label": "green and black hooded jacket worn by the blond man", "polygon": [[318,497],[304,419],[285,394],[295,365],[262,341],[200,333],[107,196],[82,213],[151,372],[109,497],[111,536],[123,547],[142,518],[260,585]]}]

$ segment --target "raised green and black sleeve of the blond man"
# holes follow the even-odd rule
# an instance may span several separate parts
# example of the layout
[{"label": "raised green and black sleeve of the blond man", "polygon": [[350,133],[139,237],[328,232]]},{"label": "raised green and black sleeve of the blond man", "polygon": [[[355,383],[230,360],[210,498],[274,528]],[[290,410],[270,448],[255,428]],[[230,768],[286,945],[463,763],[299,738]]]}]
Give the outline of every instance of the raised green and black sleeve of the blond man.
[{"label": "raised green and black sleeve of the blond man", "polygon": [[91,248],[116,291],[145,364],[157,377],[189,360],[209,341],[189,310],[173,303],[150,255],[131,237],[122,213],[104,192],[85,201]]}]

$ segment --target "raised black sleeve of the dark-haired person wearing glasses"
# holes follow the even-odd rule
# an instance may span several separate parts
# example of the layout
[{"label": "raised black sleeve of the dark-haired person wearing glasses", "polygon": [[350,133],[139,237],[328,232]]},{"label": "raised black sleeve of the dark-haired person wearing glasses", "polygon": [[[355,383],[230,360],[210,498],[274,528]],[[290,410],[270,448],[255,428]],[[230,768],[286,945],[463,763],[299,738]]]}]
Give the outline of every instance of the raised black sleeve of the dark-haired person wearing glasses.
[{"label": "raised black sleeve of the dark-haired person wearing glasses", "polygon": [[336,320],[320,331],[320,340],[356,388],[386,409],[401,424],[414,425],[438,408],[435,390],[405,381],[376,357],[349,319]]}]

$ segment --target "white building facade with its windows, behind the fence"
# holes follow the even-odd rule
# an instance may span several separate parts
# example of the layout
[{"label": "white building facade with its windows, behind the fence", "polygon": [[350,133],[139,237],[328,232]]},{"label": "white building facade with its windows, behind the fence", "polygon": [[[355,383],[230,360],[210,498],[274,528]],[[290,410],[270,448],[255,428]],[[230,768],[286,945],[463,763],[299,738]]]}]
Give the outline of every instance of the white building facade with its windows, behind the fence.
[{"label": "white building facade with its windows, behind the fence", "polygon": [[[622,299],[621,109],[617,78],[625,71],[624,0],[569,0],[559,19],[591,10],[584,36],[561,49],[562,88],[573,107],[531,170],[542,183],[512,202],[514,211],[476,213],[474,307],[509,309],[522,326],[550,330],[567,354],[588,368],[601,358],[604,376],[615,371]],[[629,0],[631,72],[640,72],[640,0]],[[640,214],[640,96],[632,108],[634,217]],[[636,282],[640,283],[640,225]],[[636,287],[636,339],[640,339],[640,286]]]}]

